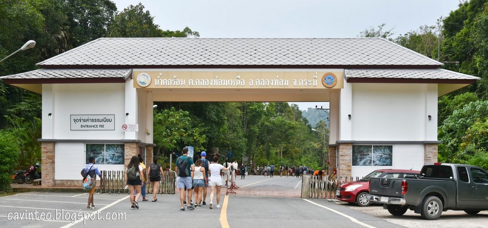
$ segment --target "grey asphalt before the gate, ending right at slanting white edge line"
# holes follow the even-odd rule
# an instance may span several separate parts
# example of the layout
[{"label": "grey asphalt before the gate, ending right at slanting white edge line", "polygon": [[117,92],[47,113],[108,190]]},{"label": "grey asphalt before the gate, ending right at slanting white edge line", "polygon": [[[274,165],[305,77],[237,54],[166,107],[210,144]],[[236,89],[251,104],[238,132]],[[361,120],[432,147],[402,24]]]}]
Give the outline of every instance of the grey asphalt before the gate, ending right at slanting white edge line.
[{"label": "grey asphalt before the gate, ending right at slanting white edge line", "polygon": [[97,208],[86,210],[85,193],[19,193],[0,198],[0,226],[402,227],[326,200],[222,196],[222,208],[216,208],[214,202],[214,209],[207,205],[179,211],[177,195],[139,202],[140,209],[135,210],[130,209],[127,198],[126,194],[96,194]]}]

